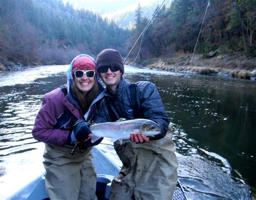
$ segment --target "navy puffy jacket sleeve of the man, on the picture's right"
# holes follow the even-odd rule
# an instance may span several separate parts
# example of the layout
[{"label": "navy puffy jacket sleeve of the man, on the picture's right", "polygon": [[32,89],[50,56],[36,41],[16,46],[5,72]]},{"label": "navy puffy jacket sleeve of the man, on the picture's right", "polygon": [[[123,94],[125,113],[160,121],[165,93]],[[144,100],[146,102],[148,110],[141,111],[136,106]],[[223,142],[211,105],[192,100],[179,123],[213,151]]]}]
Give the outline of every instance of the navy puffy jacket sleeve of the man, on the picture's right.
[{"label": "navy puffy jacket sleeve of the man, on the picture's right", "polygon": [[164,104],[161,100],[159,91],[151,82],[139,82],[140,87],[139,92],[137,92],[140,109],[143,114],[143,118],[150,119],[156,122],[160,128],[161,133],[150,137],[150,140],[159,140],[164,138],[168,130],[168,125],[170,123],[167,112],[164,108]]}]

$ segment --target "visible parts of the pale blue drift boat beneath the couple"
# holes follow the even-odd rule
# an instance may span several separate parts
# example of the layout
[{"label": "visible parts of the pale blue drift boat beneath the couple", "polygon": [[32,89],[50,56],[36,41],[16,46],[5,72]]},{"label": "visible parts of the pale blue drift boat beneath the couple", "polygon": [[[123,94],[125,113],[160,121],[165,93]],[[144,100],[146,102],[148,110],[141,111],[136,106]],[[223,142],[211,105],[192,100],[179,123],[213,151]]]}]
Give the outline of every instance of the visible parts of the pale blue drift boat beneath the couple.
[{"label": "visible parts of the pale blue drift boat beneath the couple", "polygon": [[[112,162],[111,158],[105,155],[97,146],[92,148],[92,155],[97,172],[96,195],[99,200],[107,200],[110,196],[111,182],[114,176],[119,173],[120,167]],[[8,200],[14,199],[50,199],[45,191],[44,173],[8,198]],[[187,199],[179,180],[172,199]]]}]

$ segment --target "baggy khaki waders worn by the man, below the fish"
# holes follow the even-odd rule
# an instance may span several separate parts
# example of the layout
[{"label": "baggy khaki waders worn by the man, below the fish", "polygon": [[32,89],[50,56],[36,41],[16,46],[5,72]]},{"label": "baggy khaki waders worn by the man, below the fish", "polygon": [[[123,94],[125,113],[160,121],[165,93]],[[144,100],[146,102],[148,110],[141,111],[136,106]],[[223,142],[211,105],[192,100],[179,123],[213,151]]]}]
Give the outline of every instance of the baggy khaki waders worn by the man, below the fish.
[{"label": "baggy khaki waders worn by the man, below the fish", "polygon": [[110,199],[172,199],[178,181],[172,130],[143,144],[115,142],[123,167],[111,184]]}]

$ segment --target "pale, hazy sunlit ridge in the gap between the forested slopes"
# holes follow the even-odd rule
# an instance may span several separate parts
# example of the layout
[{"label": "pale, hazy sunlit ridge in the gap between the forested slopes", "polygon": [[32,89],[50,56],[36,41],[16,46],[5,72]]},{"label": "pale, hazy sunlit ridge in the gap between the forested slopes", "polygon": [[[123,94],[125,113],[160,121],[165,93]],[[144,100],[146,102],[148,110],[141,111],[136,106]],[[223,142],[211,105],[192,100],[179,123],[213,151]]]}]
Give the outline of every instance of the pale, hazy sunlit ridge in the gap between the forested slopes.
[{"label": "pale, hazy sunlit ridge in the gap between the forested slopes", "polygon": [[[154,11],[156,10],[158,5],[161,5],[163,0],[149,0],[149,1],[139,1],[140,7],[142,8],[143,17],[151,19]],[[113,20],[118,26],[123,28],[131,29],[135,24],[135,11],[138,8],[138,3],[134,3],[133,5],[127,6],[124,9],[120,9],[114,12],[108,12],[102,15],[103,18],[107,18],[108,20]],[[171,0],[165,1],[166,8],[171,4]]]}]

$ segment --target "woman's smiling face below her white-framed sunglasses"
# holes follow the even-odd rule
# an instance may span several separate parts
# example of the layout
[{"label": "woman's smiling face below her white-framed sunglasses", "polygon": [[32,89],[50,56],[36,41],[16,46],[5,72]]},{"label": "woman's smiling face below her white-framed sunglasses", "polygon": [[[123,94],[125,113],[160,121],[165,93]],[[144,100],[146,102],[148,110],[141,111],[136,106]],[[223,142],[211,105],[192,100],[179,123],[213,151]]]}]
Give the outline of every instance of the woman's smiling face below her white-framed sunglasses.
[{"label": "woman's smiling face below her white-framed sunglasses", "polygon": [[74,77],[74,84],[78,90],[86,95],[87,92],[90,91],[95,84],[95,77],[87,78],[85,75],[82,78]]}]

